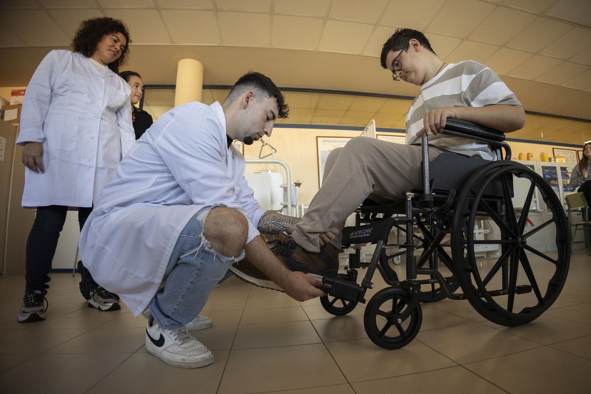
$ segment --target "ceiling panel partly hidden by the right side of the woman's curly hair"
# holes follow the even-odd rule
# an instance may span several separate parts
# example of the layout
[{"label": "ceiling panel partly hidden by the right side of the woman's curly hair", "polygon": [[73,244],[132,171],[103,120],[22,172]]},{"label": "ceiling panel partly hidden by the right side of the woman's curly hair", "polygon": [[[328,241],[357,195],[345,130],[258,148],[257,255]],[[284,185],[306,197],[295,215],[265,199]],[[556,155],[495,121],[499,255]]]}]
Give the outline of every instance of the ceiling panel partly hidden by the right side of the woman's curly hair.
[{"label": "ceiling panel partly hidden by the right side of the woman's curly hair", "polygon": [[122,19],[133,44],[170,44],[170,38],[155,9],[105,9],[109,17]]}]

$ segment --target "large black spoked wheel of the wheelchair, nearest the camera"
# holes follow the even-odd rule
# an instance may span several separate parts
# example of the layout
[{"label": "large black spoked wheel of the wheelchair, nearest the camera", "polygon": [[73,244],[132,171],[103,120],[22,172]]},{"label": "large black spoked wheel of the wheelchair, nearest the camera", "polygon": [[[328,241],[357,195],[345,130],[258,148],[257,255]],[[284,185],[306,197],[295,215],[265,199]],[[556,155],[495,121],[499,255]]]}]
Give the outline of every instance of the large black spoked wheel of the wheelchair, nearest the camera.
[{"label": "large black spoked wheel of the wheelchair, nearest the camera", "polygon": [[[521,208],[519,216],[514,207]],[[532,207],[545,211],[545,218],[540,223],[541,216],[532,217],[538,224],[528,229]],[[477,220],[486,220],[494,230],[489,239],[475,236]],[[480,168],[459,195],[453,226],[457,278],[466,298],[483,317],[500,325],[521,325],[539,317],[556,301],[569,271],[570,232],[556,193],[536,172],[511,161]],[[545,239],[535,240],[543,234],[536,235],[542,229],[556,233],[550,245]],[[543,247],[534,247],[536,243]],[[500,245],[501,253],[496,262],[480,270],[475,257],[479,245]]]}]

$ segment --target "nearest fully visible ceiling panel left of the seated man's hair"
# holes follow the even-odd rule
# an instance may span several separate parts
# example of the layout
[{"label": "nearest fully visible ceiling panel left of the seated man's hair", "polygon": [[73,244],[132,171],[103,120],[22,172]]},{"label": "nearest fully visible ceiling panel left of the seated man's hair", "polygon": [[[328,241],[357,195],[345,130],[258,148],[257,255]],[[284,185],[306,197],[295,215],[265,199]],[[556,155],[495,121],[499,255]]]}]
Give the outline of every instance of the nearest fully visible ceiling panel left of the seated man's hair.
[{"label": "nearest fully visible ceiling panel left of the seated man's hair", "polygon": [[321,51],[360,54],[374,26],[356,22],[326,21]]}]

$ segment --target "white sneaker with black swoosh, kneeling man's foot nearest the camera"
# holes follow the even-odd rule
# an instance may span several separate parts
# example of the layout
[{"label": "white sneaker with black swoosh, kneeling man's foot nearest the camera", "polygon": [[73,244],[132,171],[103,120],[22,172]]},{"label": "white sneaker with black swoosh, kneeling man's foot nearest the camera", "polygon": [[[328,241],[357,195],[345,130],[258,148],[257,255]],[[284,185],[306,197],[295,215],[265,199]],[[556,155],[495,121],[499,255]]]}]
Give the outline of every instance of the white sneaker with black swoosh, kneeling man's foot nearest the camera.
[{"label": "white sneaker with black swoosh, kneeling man's foot nearest the camera", "polygon": [[173,367],[199,368],[213,363],[212,352],[185,327],[166,330],[158,327],[152,316],[146,324],[146,349]]}]

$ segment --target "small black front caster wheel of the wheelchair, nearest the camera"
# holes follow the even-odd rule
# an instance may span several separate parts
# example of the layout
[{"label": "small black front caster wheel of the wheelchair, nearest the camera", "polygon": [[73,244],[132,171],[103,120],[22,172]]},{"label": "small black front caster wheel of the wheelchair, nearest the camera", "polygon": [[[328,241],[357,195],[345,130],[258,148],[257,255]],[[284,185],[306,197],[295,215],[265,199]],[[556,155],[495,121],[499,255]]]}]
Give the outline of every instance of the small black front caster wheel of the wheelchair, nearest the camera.
[{"label": "small black front caster wheel of the wheelchair, nearest the camera", "polygon": [[411,296],[405,289],[389,287],[378,291],[365,308],[363,324],[369,339],[384,349],[400,349],[418,334],[423,320],[421,305],[409,310]]}]

